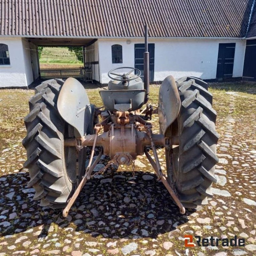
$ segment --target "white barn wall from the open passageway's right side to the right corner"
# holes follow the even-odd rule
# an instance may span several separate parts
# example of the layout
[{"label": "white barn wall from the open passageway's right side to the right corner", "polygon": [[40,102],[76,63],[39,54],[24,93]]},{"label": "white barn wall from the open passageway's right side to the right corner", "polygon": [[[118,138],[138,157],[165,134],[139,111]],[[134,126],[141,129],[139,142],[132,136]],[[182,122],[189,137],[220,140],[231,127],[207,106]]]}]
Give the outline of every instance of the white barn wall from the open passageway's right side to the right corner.
[{"label": "white barn wall from the open passageway's right side to the right corner", "polygon": [[[134,44],[143,40],[99,39],[100,82],[108,83],[108,71],[112,68],[134,67]],[[154,81],[163,81],[166,76],[197,76],[202,79],[215,79],[219,43],[236,43],[233,77],[243,73],[245,40],[240,39],[149,39],[155,43]],[[113,64],[111,45],[123,46],[123,63]]]}]

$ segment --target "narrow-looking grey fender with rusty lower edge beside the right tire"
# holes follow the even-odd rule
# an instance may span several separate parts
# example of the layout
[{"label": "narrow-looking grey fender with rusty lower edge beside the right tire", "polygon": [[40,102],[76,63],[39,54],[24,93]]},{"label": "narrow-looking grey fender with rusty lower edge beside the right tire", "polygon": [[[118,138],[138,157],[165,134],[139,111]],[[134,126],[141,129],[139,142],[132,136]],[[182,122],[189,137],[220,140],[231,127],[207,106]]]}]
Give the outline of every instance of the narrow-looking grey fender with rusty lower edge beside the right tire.
[{"label": "narrow-looking grey fender with rusty lower edge beside the right tire", "polygon": [[160,133],[171,137],[171,124],[180,112],[180,95],[173,76],[162,82],[158,98],[158,117]]}]

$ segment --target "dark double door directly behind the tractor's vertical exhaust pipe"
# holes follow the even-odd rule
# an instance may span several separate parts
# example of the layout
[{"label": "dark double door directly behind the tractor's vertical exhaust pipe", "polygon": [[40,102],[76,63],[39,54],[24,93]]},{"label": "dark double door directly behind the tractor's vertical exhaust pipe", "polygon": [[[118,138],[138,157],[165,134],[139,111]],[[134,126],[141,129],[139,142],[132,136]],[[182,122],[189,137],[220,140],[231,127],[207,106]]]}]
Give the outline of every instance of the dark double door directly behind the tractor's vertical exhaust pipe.
[{"label": "dark double door directly behind the tractor's vertical exhaust pipe", "polygon": [[[140,69],[141,79],[144,81],[144,62],[143,54],[145,51],[144,44],[134,44],[134,67]],[[155,66],[155,44],[148,44],[149,52],[149,81],[154,81],[154,66]]]}]

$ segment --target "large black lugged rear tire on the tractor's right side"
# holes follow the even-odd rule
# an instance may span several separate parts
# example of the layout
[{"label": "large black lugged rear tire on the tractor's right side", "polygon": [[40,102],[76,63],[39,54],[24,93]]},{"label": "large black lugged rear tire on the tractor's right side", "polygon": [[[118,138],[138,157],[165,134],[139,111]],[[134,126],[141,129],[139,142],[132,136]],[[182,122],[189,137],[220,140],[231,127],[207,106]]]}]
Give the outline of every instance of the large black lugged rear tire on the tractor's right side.
[{"label": "large black lugged rear tire on the tractor's right side", "polygon": [[219,134],[215,130],[216,112],[208,85],[196,77],[177,80],[181,109],[173,131],[178,132],[179,146],[173,147],[172,174],[176,192],[186,208],[198,208],[212,197],[212,182]]}]

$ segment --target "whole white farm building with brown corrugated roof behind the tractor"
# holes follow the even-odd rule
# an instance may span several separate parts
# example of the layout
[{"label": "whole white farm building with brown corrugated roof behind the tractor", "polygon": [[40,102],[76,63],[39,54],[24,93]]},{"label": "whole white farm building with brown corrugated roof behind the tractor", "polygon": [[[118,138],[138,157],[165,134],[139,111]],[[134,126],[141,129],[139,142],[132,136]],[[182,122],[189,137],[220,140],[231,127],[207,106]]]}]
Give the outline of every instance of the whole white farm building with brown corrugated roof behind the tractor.
[{"label": "whole white farm building with brown corrugated roof behind the tractor", "polygon": [[151,81],[256,78],[255,0],[2,0],[0,7],[0,87],[40,77],[38,45],[84,46],[101,84],[112,68],[143,70],[144,24]]}]

